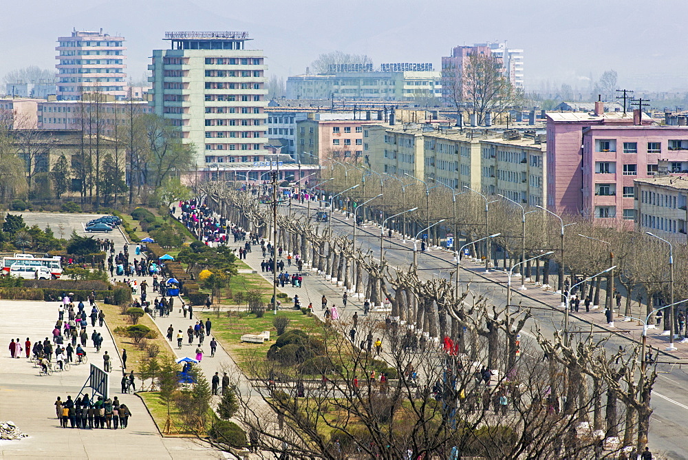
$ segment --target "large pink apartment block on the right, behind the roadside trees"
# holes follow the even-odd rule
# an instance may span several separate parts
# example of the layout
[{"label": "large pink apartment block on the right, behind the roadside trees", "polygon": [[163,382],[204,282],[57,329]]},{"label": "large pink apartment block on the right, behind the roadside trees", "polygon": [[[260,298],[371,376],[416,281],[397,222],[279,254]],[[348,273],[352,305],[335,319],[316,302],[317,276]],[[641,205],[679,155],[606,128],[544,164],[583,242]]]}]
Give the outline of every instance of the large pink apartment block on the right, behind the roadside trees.
[{"label": "large pink apartment block on the right, behind the roadside trees", "polygon": [[657,125],[635,114],[547,114],[548,209],[631,221],[634,179],[652,177],[660,159],[688,169],[688,127]]}]

